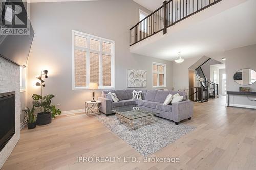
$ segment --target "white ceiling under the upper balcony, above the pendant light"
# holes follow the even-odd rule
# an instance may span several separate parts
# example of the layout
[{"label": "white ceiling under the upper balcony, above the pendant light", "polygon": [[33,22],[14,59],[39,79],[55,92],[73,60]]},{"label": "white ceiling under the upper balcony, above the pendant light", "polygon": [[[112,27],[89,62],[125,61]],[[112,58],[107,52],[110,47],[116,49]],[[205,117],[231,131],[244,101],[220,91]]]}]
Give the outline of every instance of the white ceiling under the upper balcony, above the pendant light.
[{"label": "white ceiling under the upper balcony, above the pendant light", "polygon": [[[214,6],[218,8],[217,5],[218,3]],[[208,9],[218,10],[214,6]],[[179,51],[183,58],[207,56],[222,61],[225,51],[256,44],[255,7],[256,1],[248,0],[196,23],[191,20],[196,15],[205,15],[206,9],[169,27],[165,35],[160,32],[147,38],[148,43],[146,39],[131,46],[130,51],[170,61],[177,57]],[[186,27],[184,22],[187,24]],[[157,36],[161,38],[155,38]]]}]

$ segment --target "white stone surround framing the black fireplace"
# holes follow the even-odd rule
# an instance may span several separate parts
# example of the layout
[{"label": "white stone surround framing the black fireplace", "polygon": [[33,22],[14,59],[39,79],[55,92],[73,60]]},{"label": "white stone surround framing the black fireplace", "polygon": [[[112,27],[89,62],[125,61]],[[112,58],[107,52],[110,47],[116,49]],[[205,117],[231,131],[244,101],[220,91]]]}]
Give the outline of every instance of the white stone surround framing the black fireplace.
[{"label": "white stone surround framing the black fireplace", "polygon": [[20,138],[20,66],[0,57],[0,93],[15,91],[15,134],[0,151],[0,168]]}]

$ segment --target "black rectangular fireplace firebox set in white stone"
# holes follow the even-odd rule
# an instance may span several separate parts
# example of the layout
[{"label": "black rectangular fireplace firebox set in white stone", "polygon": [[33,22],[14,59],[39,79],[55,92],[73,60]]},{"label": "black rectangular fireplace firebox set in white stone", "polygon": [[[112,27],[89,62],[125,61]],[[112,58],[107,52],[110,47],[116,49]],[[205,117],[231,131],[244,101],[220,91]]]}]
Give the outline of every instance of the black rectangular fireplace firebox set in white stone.
[{"label": "black rectangular fireplace firebox set in white stone", "polygon": [[0,94],[0,151],[15,134],[15,91]]}]

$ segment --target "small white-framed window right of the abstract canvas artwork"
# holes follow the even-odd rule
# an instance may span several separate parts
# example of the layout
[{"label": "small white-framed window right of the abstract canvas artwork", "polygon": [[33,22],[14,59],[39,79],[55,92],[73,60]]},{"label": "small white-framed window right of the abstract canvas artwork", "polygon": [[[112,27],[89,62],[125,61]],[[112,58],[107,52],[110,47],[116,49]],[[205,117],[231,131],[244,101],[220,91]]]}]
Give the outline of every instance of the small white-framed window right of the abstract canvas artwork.
[{"label": "small white-framed window right of the abstract canvas artwork", "polygon": [[166,87],[166,64],[152,63],[153,87]]}]

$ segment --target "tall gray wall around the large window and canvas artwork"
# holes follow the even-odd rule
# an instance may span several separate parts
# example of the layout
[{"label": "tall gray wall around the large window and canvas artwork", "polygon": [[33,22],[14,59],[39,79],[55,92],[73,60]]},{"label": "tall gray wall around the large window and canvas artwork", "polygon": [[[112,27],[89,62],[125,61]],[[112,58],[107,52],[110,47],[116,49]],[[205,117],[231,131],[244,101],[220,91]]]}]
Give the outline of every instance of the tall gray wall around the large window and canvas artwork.
[{"label": "tall gray wall around the large window and canvas artwork", "polygon": [[[84,108],[91,90],[72,90],[71,30],[115,41],[115,88],[127,88],[126,70],[147,70],[147,89],[152,88],[152,62],[167,64],[167,88],[172,88],[172,62],[132,54],[130,28],[139,21],[139,8],[132,0],[31,3],[30,18],[35,36],[28,60],[28,104],[40,92],[35,76],[49,71],[43,94],[54,94],[53,104],[62,111]],[[96,91],[96,99],[101,94]]]}]

